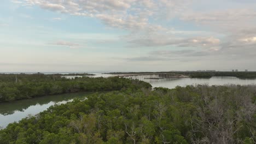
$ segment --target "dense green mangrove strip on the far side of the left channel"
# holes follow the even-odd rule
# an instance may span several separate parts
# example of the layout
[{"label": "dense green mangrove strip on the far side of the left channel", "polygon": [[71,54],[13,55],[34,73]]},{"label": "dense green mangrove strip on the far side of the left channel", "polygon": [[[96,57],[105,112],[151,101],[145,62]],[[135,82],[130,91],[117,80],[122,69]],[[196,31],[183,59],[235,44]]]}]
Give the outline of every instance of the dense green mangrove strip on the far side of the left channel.
[{"label": "dense green mangrove strip on the far side of the left channel", "polygon": [[29,99],[43,95],[53,95],[71,92],[95,92],[95,91],[113,91],[127,87],[151,87],[149,83],[119,79],[118,77],[76,77],[75,79],[65,79],[53,75],[21,74],[19,81],[13,82],[15,75],[0,76],[0,103],[19,99]]}]

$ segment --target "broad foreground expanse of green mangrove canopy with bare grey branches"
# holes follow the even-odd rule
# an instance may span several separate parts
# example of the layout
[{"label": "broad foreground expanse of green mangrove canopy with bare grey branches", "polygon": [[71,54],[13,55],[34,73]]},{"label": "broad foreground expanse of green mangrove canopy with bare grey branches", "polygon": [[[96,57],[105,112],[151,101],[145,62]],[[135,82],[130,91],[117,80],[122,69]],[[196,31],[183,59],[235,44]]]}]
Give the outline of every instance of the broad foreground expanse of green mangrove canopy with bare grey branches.
[{"label": "broad foreground expanse of green mangrove canopy with bare grey branches", "polygon": [[0,143],[255,143],[256,86],[129,88],[51,106]]}]

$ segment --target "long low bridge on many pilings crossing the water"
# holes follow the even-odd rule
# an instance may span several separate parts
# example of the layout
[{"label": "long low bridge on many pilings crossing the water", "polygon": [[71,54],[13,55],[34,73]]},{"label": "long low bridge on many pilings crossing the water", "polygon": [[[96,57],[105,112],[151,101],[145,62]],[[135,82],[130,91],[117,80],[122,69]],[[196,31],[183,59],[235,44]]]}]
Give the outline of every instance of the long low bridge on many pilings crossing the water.
[{"label": "long low bridge on many pilings crossing the water", "polygon": [[151,81],[163,81],[166,79],[178,79],[178,78],[185,78],[189,77],[187,75],[182,75],[182,74],[170,74],[170,73],[144,73],[144,74],[120,74],[120,75],[115,75],[118,77],[125,77],[128,79],[138,79],[146,82],[151,82]]}]

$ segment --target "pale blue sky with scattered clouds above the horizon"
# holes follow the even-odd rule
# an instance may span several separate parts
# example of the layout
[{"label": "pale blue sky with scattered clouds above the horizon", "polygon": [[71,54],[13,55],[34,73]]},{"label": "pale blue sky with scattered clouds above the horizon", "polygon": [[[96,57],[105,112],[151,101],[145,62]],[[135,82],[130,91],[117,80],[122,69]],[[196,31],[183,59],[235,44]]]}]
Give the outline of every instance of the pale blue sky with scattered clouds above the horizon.
[{"label": "pale blue sky with scattered clouds above the horizon", "polygon": [[1,0],[0,71],[256,71],[256,0]]}]

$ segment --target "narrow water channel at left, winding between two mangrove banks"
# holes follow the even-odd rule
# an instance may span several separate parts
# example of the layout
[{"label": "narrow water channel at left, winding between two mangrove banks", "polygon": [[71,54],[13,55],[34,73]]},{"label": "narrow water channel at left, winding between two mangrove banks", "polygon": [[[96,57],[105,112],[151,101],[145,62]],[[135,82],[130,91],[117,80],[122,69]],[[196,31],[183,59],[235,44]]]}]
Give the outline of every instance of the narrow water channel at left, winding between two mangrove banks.
[{"label": "narrow water channel at left, winding between two mangrove banks", "polygon": [[0,127],[4,128],[9,123],[18,122],[29,115],[36,115],[51,105],[65,104],[74,98],[83,98],[91,94],[88,92],[48,95],[33,99],[18,100],[11,103],[0,104]]}]

